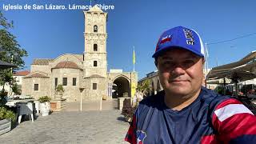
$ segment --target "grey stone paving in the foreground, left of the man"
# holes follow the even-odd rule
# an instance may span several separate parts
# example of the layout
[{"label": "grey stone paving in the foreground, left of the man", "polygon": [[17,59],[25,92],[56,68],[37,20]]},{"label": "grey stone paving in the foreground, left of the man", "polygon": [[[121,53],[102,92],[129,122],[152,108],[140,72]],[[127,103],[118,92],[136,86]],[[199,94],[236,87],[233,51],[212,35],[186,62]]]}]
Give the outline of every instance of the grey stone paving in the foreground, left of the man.
[{"label": "grey stone paving in the foreground, left of the man", "polygon": [[56,112],[40,116],[34,122],[22,122],[1,135],[0,143],[127,143],[123,139],[129,123],[122,119],[120,110]]}]

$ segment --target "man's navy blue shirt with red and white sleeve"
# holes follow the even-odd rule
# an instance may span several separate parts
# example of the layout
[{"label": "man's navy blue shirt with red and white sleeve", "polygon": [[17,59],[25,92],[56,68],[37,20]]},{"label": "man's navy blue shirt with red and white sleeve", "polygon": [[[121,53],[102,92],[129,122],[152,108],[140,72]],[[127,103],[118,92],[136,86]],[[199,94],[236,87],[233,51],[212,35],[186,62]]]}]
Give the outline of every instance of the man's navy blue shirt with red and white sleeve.
[{"label": "man's navy blue shirt with red and white sleeve", "polygon": [[164,91],[140,102],[125,140],[130,143],[256,143],[256,118],[234,98],[202,87],[182,110],[171,110]]}]

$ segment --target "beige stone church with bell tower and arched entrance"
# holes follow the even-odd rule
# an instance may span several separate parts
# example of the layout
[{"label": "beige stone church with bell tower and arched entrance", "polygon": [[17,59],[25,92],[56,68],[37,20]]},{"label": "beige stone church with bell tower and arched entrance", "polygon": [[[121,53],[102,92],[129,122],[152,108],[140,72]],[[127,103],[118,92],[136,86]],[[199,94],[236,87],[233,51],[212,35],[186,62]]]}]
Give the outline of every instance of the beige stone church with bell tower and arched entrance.
[{"label": "beige stone church with bell tower and arched entrance", "polygon": [[107,71],[107,13],[98,6],[84,11],[85,50],[83,54],[62,54],[58,58],[37,58],[30,74],[22,80],[22,94],[34,98],[55,98],[55,88],[62,85],[67,102],[94,101],[100,98],[132,97],[137,87],[136,72]]}]

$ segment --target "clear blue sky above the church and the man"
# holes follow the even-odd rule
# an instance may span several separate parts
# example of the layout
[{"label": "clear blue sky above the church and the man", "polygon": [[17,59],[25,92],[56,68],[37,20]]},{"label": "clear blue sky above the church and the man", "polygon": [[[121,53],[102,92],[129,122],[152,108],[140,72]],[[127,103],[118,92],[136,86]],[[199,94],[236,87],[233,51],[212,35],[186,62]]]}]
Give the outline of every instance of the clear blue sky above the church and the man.
[{"label": "clear blue sky above the church and the man", "polygon": [[[90,5],[89,0],[2,0],[2,5]],[[154,48],[164,30],[186,26],[197,30],[203,42],[222,42],[256,32],[256,1],[174,1],[174,0],[104,0],[92,4],[113,5],[106,10],[107,60],[109,69],[132,71],[135,46],[135,70],[138,77],[156,70]],[[29,56],[26,69],[34,58],[57,58],[60,54],[84,51],[84,16],[82,10],[2,10],[14,21],[11,32]],[[238,61],[256,50],[256,34],[235,41],[208,46],[209,67]]]}]

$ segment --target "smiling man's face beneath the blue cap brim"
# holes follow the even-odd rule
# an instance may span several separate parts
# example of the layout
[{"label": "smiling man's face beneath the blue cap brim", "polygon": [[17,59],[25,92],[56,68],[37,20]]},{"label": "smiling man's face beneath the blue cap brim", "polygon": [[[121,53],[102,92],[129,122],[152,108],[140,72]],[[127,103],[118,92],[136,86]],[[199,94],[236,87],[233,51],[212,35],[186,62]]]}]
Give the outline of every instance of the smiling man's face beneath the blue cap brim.
[{"label": "smiling man's face beneath the blue cap brim", "polygon": [[189,50],[173,49],[157,58],[158,76],[169,94],[189,96],[202,85],[203,59]]}]

